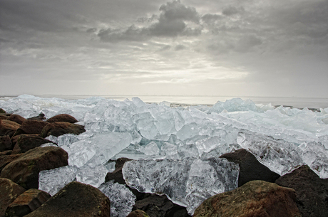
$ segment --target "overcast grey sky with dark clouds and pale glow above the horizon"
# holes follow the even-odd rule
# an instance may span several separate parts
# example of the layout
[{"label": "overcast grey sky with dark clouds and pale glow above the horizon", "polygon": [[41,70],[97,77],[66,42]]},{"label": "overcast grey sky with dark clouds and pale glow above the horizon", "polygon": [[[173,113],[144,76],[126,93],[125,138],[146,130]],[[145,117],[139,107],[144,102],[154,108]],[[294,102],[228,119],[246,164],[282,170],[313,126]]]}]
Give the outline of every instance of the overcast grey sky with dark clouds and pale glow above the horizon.
[{"label": "overcast grey sky with dark clouds and pale glow above the horizon", "polygon": [[328,97],[328,0],[0,0],[0,95]]}]

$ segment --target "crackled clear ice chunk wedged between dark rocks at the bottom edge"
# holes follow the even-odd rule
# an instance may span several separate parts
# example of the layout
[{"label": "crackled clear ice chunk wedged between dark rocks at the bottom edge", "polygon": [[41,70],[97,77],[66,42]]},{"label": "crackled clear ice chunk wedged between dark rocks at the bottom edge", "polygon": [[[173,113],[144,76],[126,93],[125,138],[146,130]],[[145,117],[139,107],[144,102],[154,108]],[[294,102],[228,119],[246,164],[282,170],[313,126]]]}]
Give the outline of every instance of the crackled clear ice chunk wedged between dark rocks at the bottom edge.
[{"label": "crackled clear ice chunk wedged between dark rocks at the bottom edge", "polygon": [[98,187],[111,201],[111,216],[125,217],[132,211],[135,195],[123,184],[108,181]]}]

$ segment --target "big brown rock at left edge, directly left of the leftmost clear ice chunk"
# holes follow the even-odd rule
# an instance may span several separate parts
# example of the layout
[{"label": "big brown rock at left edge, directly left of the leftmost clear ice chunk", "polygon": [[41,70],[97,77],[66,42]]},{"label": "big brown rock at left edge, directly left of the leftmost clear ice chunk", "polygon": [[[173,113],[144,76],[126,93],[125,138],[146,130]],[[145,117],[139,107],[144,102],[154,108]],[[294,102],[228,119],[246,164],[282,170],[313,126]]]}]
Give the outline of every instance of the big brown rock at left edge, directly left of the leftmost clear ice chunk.
[{"label": "big brown rock at left edge, directly left of the leftmost clear ice chunk", "polygon": [[36,147],[9,163],[1,177],[11,179],[25,189],[39,189],[39,171],[68,165],[68,154],[59,147]]}]

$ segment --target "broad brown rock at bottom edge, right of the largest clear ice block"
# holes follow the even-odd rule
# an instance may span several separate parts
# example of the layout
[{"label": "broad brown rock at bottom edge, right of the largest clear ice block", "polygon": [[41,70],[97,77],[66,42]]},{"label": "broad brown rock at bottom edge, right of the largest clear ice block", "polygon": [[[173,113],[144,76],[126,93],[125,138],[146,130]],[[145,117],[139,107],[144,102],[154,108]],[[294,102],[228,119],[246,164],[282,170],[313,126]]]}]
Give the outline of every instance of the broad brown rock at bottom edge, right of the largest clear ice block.
[{"label": "broad brown rock at bottom edge, right of the largest clear ice block", "polygon": [[243,186],[217,194],[196,208],[194,217],[301,216],[294,189],[267,181],[249,181]]}]

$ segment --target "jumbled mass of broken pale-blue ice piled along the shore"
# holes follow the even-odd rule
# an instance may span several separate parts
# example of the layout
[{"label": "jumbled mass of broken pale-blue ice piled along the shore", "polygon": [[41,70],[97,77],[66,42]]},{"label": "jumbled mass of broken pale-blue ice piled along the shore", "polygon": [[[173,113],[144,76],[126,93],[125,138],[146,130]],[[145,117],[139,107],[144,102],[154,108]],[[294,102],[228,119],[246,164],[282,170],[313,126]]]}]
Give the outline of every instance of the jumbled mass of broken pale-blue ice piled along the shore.
[{"label": "jumbled mass of broken pale-blue ice piled along the shore", "polygon": [[[40,173],[41,188],[51,194],[75,179],[99,187],[107,171],[113,169],[108,159],[128,157],[137,160],[124,166],[128,184],[140,191],[167,194],[192,213],[194,204],[233,188],[230,184],[235,180],[227,171],[234,167],[215,167],[213,162],[224,164],[217,156],[241,147],[279,174],[308,164],[319,176],[328,178],[328,108],[313,112],[257,106],[241,99],[217,102],[212,107],[170,107],[169,102],[148,104],[137,97],[124,101],[101,97],[62,100],[31,95],[1,98],[0,107],[23,117],[66,113],[85,126],[86,132],[78,136],[47,138],[68,152],[71,166],[63,168],[67,172]],[[185,171],[180,171],[182,168]],[[134,180],[140,174],[147,179]],[[58,184],[51,179],[58,179]],[[221,180],[222,186],[212,184],[213,180]],[[191,184],[197,188],[192,189]]]}]

